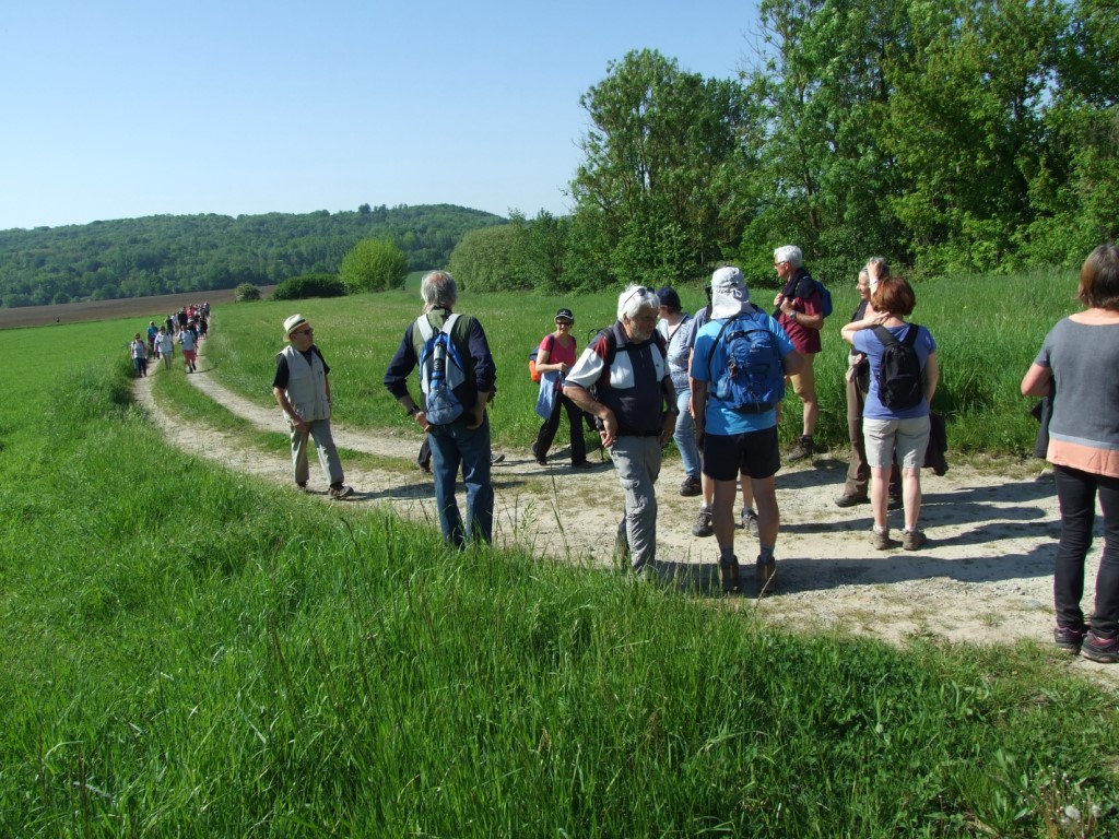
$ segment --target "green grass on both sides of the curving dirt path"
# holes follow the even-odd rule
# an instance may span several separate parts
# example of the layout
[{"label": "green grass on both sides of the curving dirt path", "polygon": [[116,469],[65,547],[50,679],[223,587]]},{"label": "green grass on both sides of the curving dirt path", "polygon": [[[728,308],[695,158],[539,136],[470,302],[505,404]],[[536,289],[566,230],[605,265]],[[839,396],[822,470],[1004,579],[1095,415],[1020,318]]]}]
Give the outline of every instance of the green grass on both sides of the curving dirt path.
[{"label": "green grass on both sides of the curving dirt path", "polygon": [[[1029,425],[997,412],[1025,415],[1012,390],[1071,290],[1000,282],[923,285],[915,320],[959,427],[1015,451]],[[534,431],[514,406],[560,304],[581,336],[612,309],[463,295],[508,370],[510,444]],[[380,376],[417,308],[299,307],[346,422],[403,422]],[[207,348],[262,403],[291,309],[222,310]],[[170,450],[131,403],[131,331],[0,331],[0,836],[1119,835],[1113,692],[1047,648],[777,631],[524,553],[448,553]]]}]

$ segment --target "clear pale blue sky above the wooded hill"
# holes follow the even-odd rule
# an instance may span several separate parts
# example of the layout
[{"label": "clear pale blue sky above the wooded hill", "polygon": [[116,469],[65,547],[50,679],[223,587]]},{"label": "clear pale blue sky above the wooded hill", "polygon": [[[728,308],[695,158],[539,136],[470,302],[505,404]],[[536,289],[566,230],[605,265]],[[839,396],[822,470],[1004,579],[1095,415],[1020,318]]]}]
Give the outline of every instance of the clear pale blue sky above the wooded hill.
[{"label": "clear pale blue sky above the wooded hill", "polygon": [[0,16],[0,229],[563,195],[631,49],[727,78],[730,0],[25,0]]}]

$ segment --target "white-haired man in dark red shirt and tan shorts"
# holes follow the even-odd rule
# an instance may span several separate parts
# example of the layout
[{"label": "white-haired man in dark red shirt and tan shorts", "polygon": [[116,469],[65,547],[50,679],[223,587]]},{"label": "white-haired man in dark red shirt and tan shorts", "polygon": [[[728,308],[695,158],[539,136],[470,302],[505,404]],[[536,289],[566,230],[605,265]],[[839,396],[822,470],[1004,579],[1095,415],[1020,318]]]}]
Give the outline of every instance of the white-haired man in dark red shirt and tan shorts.
[{"label": "white-haired man in dark red shirt and tan shorts", "polygon": [[773,317],[805,359],[800,373],[789,377],[797,398],[805,406],[802,433],[787,456],[791,463],[816,451],[812,435],[820,404],[816,396],[814,364],[820,351],[820,330],[824,329],[824,295],[819,284],[805,270],[805,255],[796,245],[782,245],[773,252],[773,268],[784,283],[773,298]]}]

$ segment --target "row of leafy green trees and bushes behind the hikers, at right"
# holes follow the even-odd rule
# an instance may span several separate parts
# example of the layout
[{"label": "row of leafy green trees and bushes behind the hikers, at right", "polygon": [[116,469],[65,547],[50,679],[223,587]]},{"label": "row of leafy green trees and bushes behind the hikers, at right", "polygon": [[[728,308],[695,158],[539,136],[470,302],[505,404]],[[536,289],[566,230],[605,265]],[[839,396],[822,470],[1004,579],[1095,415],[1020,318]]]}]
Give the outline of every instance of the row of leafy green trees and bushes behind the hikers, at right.
[{"label": "row of leafy green trees and bushes behind the hikers, at right", "polygon": [[913,274],[1079,265],[1119,236],[1113,0],[762,0],[733,79],[656,50],[581,98],[570,217],[468,234],[474,287],[770,279],[875,254]]}]

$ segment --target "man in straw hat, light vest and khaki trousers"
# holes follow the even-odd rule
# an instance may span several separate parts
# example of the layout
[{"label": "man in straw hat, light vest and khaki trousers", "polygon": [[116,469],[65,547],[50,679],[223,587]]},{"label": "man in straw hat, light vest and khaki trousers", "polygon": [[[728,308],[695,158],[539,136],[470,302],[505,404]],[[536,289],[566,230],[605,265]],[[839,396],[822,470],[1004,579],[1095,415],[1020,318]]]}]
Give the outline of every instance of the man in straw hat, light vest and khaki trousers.
[{"label": "man in straw hat, light vest and khaki trousers", "polygon": [[[190,330],[181,334],[190,334]],[[310,478],[307,446],[314,441],[319,464],[330,481],[327,494],[335,500],[349,498],[354,489],[346,486],[338,447],[330,433],[330,367],[314,343],[314,329],[302,314],[293,314],[283,322],[283,339],[288,346],[276,356],[272,395],[291,428],[295,486],[307,491]]]}]

